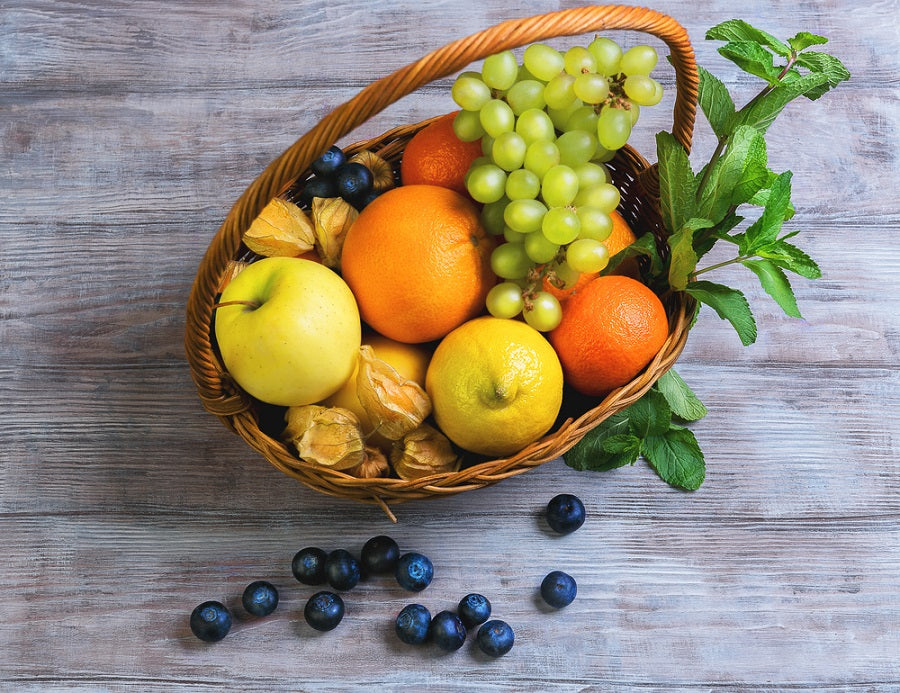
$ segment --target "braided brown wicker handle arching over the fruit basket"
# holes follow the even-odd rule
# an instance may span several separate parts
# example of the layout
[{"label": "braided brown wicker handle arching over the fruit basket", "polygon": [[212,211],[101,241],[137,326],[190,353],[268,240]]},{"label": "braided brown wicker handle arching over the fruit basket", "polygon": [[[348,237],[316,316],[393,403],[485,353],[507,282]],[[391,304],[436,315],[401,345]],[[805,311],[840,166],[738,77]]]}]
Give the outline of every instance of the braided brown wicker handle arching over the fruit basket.
[{"label": "braided brown wicker handle arching over the fruit basket", "polygon": [[[242,409],[221,391],[221,369],[212,360],[209,326],[219,275],[235,257],[241,235],[262,208],[290,185],[322,152],[373,115],[429,82],[469,64],[536,41],[590,32],[627,29],[656,36],[669,47],[675,68],[676,96],[672,133],[690,150],[697,109],[697,66],[685,29],[671,17],[641,7],[594,5],[526,19],[513,19],[458,39],[396,72],[369,84],[338,106],[272,161],[244,191],[207,249],[188,300],[187,352],[207,409],[228,415]],[[198,348],[199,347],[199,348]],[[216,400],[221,400],[218,404]],[[219,406],[221,405],[221,406]]]}]

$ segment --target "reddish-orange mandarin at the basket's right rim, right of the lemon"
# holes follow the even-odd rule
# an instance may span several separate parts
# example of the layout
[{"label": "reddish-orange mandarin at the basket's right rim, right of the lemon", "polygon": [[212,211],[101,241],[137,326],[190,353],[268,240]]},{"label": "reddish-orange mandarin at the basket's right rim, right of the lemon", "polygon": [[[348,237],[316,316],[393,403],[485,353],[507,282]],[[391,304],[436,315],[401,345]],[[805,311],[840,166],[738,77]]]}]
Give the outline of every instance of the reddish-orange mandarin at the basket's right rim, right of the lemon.
[{"label": "reddish-orange mandarin at the basket's right rim, right of the lemon", "polygon": [[650,363],[668,336],[656,294],[631,277],[597,277],[563,303],[549,338],[566,382],[586,395],[624,385]]}]

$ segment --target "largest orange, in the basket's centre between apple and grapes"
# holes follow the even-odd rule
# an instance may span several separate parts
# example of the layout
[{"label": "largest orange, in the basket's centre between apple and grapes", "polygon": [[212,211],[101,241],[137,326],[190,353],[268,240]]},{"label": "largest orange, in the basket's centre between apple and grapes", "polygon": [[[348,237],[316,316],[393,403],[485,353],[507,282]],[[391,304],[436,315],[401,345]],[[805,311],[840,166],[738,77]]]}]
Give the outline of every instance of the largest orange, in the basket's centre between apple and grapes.
[{"label": "largest orange, in the basket's centre between apple and grapes", "polygon": [[492,247],[473,202],[436,185],[403,185],[360,212],[341,271],[377,332],[429,342],[484,309],[496,281]]}]

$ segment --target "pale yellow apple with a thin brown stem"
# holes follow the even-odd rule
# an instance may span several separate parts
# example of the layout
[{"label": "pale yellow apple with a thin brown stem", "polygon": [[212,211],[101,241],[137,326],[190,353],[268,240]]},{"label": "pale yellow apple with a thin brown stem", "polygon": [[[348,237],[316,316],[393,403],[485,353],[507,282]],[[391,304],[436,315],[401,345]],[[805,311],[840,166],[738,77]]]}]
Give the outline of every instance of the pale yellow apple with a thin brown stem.
[{"label": "pale yellow apple with a thin brown stem", "polygon": [[216,308],[225,367],[250,395],[269,404],[320,402],[353,374],[359,308],[335,272],[310,260],[273,257],[247,266]]}]

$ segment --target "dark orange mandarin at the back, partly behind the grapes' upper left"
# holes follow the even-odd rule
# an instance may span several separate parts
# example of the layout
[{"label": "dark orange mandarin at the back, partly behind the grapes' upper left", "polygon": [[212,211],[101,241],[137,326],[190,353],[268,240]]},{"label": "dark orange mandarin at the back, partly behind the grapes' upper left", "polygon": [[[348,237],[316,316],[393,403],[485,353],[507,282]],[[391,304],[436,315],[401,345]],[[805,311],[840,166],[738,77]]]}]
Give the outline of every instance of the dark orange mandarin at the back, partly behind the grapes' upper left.
[{"label": "dark orange mandarin at the back, partly behind the grapes' upper left", "polygon": [[441,116],[407,143],[400,161],[403,185],[439,185],[466,195],[464,178],[481,156],[481,140],[463,142],[453,132],[457,112]]}]

